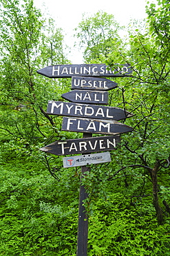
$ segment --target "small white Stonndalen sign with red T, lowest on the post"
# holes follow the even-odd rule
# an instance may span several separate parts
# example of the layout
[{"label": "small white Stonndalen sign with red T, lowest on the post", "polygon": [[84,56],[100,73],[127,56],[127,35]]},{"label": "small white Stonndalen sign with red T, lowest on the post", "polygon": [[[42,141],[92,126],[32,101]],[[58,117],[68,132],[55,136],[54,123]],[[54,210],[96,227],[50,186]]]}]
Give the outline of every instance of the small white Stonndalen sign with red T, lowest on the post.
[{"label": "small white Stonndalen sign with red T, lowest on the post", "polygon": [[111,162],[111,157],[109,152],[97,153],[97,154],[86,154],[81,156],[63,157],[63,167],[76,167],[83,165],[91,165],[98,163]]}]

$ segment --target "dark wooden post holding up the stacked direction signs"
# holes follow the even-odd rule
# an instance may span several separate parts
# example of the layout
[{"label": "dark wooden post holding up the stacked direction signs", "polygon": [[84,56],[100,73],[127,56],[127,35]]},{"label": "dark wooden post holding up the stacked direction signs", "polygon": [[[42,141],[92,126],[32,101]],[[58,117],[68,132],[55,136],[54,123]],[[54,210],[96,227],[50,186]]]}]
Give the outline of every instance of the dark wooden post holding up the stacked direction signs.
[{"label": "dark wooden post holding up the stacked direction signs", "polygon": [[[92,137],[92,134],[83,133],[83,138]],[[81,167],[81,179],[85,176],[85,172],[89,172],[90,168]],[[78,210],[78,238],[76,256],[87,256],[87,238],[88,238],[88,217],[83,205],[83,200],[87,199],[88,194],[85,191],[84,185],[80,186],[79,210]]]}]

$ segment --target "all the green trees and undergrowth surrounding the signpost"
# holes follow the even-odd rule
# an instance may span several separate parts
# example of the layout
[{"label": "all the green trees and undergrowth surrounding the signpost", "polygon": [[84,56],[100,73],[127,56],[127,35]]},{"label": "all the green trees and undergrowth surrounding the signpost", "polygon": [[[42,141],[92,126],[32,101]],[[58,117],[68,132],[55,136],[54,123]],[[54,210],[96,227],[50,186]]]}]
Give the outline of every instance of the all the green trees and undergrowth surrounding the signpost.
[{"label": "all the green trees and undergrowth surrounding the signpost", "polygon": [[[39,148],[81,138],[61,131],[47,100],[63,100],[70,79],[36,71],[70,64],[63,31],[32,0],[1,0],[0,254],[76,255],[81,168]],[[83,17],[75,37],[85,63],[131,65],[114,78],[109,105],[134,113],[111,163],[92,165],[82,183],[89,194],[88,255],[170,255],[169,239],[169,1],[147,3],[147,19],[121,28],[112,15]],[[127,38],[120,30],[128,31]],[[52,31],[52,33],[51,33]],[[4,44],[4,42],[6,42]]]}]

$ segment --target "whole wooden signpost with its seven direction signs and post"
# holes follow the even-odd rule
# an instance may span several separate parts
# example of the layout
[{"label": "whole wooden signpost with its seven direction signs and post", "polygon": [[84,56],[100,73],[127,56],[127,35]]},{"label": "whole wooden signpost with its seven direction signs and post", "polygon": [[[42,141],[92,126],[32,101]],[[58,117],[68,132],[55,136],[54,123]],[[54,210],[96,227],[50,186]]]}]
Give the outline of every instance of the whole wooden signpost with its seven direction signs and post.
[{"label": "whole wooden signpost with its seven direction signs and post", "polygon": [[[128,77],[132,70],[128,64],[53,65],[40,69],[37,73],[50,78],[72,77],[72,90],[62,97],[70,102],[50,100],[47,114],[64,116],[62,131],[82,132],[83,138],[59,140],[42,147],[41,150],[57,156],[83,154],[63,158],[63,167],[81,166],[81,179],[90,171],[86,165],[111,161],[109,151],[120,143],[119,134],[133,128],[118,122],[133,116],[132,113],[117,107],[98,106],[108,104],[108,92],[118,84],[104,77]],[[81,104],[83,103],[83,104]],[[109,136],[92,137],[92,134]],[[89,154],[94,152],[103,152]],[[87,256],[88,217],[83,201],[87,199],[84,185],[80,185],[78,210],[78,239],[76,256]]]}]

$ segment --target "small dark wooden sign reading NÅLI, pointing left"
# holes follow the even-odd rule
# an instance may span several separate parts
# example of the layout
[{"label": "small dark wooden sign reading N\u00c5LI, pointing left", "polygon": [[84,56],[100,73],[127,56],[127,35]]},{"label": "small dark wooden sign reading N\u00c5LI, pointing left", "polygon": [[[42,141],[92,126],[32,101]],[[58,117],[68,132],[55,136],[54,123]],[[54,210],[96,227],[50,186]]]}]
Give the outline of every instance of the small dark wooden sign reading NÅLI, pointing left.
[{"label": "small dark wooden sign reading N\u00c5LI, pointing left", "polygon": [[77,103],[108,104],[107,91],[82,91],[74,90],[61,95],[65,100]]}]

